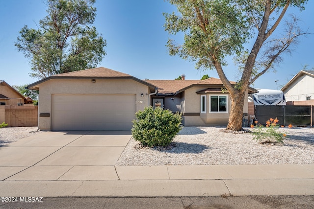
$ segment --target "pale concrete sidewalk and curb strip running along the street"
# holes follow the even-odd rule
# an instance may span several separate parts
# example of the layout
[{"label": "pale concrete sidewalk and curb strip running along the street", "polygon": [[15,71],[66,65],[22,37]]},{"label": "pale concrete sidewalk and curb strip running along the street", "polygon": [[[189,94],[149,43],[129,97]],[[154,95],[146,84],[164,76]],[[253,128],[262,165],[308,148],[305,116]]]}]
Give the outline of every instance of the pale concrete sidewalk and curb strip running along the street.
[{"label": "pale concrete sidewalk and curb strip running along the street", "polygon": [[[21,172],[0,182],[0,196],[314,195],[314,165],[87,167],[74,166],[75,173],[58,179],[46,176],[46,180]],[[52,166],[32,168],[51,174],[56,169]],[[107,173],[97,178],[99,172],[92,172],[92,177],[85,175],[84,169]]]}]

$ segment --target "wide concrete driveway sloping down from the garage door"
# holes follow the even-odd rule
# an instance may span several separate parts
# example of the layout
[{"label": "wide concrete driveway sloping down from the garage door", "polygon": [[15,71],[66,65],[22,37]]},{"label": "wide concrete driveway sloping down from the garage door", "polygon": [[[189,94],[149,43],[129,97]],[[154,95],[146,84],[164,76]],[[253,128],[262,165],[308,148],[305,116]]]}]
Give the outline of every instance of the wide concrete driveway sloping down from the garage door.
[{"label": "wide concrete driveway sloping down from the garage door", "polygon": [[130,131],[43,132],[0,147],[0,181],[118,180]]}]

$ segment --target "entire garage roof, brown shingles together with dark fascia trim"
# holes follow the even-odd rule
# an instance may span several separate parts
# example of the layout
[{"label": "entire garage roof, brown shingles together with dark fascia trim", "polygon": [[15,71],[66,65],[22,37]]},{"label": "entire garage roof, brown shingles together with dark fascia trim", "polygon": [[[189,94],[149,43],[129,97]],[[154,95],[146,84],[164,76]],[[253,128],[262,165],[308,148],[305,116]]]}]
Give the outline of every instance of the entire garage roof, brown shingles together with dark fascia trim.
[{"label": "entire garage roof, brown shingles together with dark fascia trim", "polygon": [[142,84],[149,86],[150,88],[155,88],[152,84],[149,84],[145,81],[142,81],[138,78],[135,78],[129,74],[111,70],[104,67],[87,69],[87,70],[78,70],[73,72],[67,72],[57,75],[52,75],[42,80],[39,80],[35,83],[29,84],[28,89],[39,90],[39,84],[46,82],[51,79],[132,79]]}]

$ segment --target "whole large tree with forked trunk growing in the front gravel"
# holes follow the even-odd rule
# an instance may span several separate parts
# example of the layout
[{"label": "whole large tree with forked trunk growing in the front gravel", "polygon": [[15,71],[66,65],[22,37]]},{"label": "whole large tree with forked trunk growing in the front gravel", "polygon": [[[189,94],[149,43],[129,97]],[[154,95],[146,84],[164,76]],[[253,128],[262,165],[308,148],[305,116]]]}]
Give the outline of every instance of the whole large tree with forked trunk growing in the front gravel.
[{"label": "whole large tree with forked trunk growing in the front gravel", "polygon": [[[297,18],[286,21],[283,37],[273,37],[288,7],[300,10],[308,0],[168,0],[178,9],[165,13],[165,30],[184,33],[183,44],[169,39],[170,55],[195,61],[197,69],[215,69],[230,93],[229,130],[242,130],[245,92],[267,70],[282,61],[299,36],[307,34],[297,26]],[[253,41],[252,41],[253,40]],[[251,50],[244,45],[253,42]],[[223,67],[227,56],[235,56],[242,72],[236,85],[227,79]],[[236,70],[236,69],[235,69]]]}]

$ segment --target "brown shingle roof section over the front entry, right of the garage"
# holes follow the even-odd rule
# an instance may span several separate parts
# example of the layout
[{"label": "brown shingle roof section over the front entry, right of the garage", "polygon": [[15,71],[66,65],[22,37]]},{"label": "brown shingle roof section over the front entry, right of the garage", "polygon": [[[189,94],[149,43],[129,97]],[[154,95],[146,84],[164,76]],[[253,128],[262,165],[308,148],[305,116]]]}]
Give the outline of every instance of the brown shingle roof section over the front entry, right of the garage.
[{"label": "brown shingle roof section over the front entry, right of the garage", "polygon": [[[218,78],[208,78],[205,80],[147,80],[147,82],[157,86],[158,93],[162,94],[178,94],[193,86],[223,85]],[[231,81],[231,84],[235,84],[235,82]]]}]

